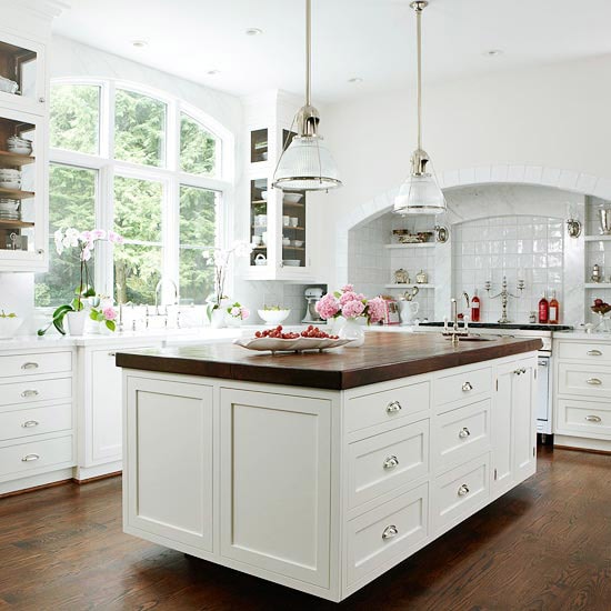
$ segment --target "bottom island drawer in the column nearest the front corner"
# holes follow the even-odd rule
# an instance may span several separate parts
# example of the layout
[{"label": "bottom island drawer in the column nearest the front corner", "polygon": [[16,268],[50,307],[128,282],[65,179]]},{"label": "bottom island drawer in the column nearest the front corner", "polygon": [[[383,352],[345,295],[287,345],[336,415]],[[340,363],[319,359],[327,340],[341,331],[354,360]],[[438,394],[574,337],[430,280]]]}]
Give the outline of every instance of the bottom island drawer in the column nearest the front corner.
[{"label": "bottom island drawer in the column nearest the front corner", "polygon": [[425,483],[348,523],[349,585],[398,555],[407,558],[428,535],[428,497]]}]

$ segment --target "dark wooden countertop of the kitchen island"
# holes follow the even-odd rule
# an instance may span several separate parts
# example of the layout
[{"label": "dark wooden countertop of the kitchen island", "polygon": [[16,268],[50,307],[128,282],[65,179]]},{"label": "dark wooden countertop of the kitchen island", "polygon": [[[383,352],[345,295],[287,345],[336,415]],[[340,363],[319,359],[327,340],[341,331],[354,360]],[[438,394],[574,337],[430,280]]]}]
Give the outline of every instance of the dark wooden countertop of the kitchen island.
[{"label": "dark wooden countertop of the kitchen island", "polygon": [[501,359],[541,348],[540,339],[460,341],[441,334],[368,332],[360,348],[324,352],[253,352],[233,343],[138,350],[117,354],[126,369],[329,390]]}]

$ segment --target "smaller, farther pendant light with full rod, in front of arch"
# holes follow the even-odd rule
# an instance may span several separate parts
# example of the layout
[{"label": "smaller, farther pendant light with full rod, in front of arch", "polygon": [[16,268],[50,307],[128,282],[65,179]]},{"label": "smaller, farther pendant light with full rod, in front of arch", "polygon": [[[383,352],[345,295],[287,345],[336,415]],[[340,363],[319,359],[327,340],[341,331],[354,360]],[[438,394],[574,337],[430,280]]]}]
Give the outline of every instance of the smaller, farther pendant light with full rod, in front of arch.
[{"label": "smaller, farther pendant light with full rod, in front of arch", "polygon": [[422,11],[429,4],[417,0],[410,7],[415,11],[415,38],[418,46],[418,148],[411,157],[411,173],[401,184],[394,198],[394,212],[399,214],[439,214],[447,209],[445,198],[434,173],[427,166],[430,159],[422,149]]}]

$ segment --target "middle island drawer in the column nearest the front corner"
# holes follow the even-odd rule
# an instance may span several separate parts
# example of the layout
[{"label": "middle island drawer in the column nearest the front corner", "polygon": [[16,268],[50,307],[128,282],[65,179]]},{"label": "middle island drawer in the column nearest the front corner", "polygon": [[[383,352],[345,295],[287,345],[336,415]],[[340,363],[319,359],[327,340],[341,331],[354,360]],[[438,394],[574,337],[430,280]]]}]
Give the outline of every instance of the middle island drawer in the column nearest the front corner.
[{"label": "middle island drawer in the column nearest the front corner", "polygon": [[349,445],[349,507],[354,508],[429,472],[429,420]]}]

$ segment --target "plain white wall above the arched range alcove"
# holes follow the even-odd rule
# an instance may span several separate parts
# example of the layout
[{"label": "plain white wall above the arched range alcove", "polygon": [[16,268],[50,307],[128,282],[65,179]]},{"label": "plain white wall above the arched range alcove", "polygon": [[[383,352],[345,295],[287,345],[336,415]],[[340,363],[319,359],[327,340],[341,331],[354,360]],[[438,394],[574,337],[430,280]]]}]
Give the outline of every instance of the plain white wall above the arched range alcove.
[{"label": "plain white wall above the arched range alcove", "polygon": [[[560,188],[608,197],[610,74],[605,56],[425,86],[423,142],[437,173],[495,164],[558,168],[570,170]],[[344,183],[323,196],[331,243],[342,219],[404,180],[414,126],[412,92],[325,109],[321,132]]]}]

